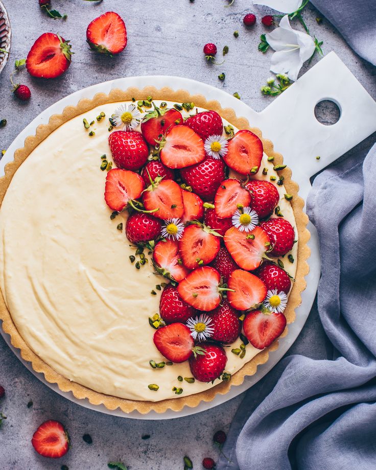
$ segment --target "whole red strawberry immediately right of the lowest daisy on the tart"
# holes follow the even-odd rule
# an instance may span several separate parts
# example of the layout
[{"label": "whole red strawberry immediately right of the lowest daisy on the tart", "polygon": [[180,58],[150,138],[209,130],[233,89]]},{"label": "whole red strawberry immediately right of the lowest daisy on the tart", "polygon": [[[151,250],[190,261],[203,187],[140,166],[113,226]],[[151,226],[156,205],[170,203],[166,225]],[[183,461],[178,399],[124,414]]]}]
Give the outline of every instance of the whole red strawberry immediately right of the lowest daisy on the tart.
[{"label": "whole red strawberry immediately right of the lowest daisy on the tart", "polygon": [[214,323],[212,339],[229,344],[238,338],[242,323],[227,299],[223,299],[219,307],[209,312],[209,316]]}]

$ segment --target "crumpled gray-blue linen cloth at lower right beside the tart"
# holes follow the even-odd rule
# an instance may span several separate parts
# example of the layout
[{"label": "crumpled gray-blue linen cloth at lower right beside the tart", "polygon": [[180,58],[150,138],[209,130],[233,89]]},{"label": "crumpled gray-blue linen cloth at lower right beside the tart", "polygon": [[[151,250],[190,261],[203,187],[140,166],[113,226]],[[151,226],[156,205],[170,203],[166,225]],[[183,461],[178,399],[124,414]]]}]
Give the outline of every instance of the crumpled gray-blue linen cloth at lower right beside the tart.
[{"label": "crumpled gray-blue linen cloth at lower right beside the tart", "polygon": [[315,179],[307,210],[320,241],[318,312],[334,355],[287,357],[252,387],[218,470],[376,468],[375,180],[376,145]]}]

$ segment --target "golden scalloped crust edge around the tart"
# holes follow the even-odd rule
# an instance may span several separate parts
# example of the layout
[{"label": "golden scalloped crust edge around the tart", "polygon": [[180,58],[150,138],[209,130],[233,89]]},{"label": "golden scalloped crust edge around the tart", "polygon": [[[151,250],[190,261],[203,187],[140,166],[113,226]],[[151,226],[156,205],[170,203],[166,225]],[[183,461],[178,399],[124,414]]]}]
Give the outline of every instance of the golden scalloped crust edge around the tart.
[{"label": "golden scalloped crust edge around the tart", "polygon": [[[223,109],[218,101],[207,101],[202,95],[191,95],[185,90],[174,91],[168,87],[161,89],[156,89],[152,86],[145,87],[144,89],[138,89],[136,87],[130,87],[127,90],[113,89],[108,95],[105,93],[97,93],[97,95],[92,99],[81,99],[77,106],[66,106],[61,114],[52,115],[48,124],[39,125],[36,129],[35,135],[29,136],[25,139],[25,146],[15,151],[14,160],[7,163],[5,167],[5,176],[0,178],[0,204],[3,202],[4,195],[17,168],[42,142],[42,140],[44,140],[59,126],[73,117],[87,112],[97,106],[119,101],[130,101],[132,98],[135,98],[136,101],[143,100],[148,96],[152,96],[154,99],[176,101],[180,103],[194,102],[196,106],[215,110],[238,129],[249,129],[254,132],[262,139],[266,155],[270,157],[273,156],[276,165],[283,163],[283,157],[279,153],[274,152],[273,144],[270,140],[262,137],[260,129],[250,127],[249,122],[245,117],[237,117],[234,110],[231,108]],[[295,282],[293,283],[288,305],[284,312],[287,318],[287,323],[289,324],[295,320],[295,309],[301,303],[300,294],[307,285],[304,277],[309,273],[307,259],[310,256],[310,248],[308,247],[307,242],[310,239],[310,232],[307,229],[309,220],[308,216],[303,212],[304,201],[298,196],[298,184],[291,180],[291,170],[289,168],[285,168],[279,174],[285,177],[284,185],[286,190],[293,196],[291,205],[294,211],[296,229],[298,231],[298,256]],[[63,392],[71,391],[78,399],[87,398],[92,405],[103,404],[108,410],[120,408],[125,413],[130,413],[134,410],[137,410],[141,414],[146,414],[152,410],[157,413],[164,413],[169,409],[180,411],[184,406],[194,408],[202,401],[210,402],[217,394],[226,394],[231,386],[242,384],[247,375],[253,375],[256,372],[258,365],[265,364],[268,361],[269,352],[275,351],[278,348],[278,340],[276,340],[268,348],[264,349],[247,362],[240,370],[238,370],[238,372],[234,373],[229,382],[221,382],[209,390],[193,395],[165,399],[159,402],[136,401],[96,392],[83,385],[71,382],[61,374],[57,373],[32,351],[18,333],[11,314],[5,304],[3,295],[0,296],[0,319],[3,320],[4,332],[10,335],[11,343],[14,347],[20,350],[22,359],[30,362],[36,372],[43,373],[47,382],[56,383],[59,389]],[[288,327],[286,327],[281,337],[286,336],[287,333]]]}]

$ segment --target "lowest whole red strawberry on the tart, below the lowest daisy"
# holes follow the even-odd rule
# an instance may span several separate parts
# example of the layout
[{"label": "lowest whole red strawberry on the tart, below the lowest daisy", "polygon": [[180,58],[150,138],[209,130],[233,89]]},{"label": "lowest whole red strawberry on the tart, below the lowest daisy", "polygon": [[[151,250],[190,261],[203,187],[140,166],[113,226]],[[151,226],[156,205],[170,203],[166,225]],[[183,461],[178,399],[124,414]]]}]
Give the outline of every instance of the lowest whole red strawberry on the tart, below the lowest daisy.
[{"label": "lowest whole red strawberry on the tart, below the lowest daisy", "polygon": [[205,354],[190,357],[191,372],[200,382],[212,382],[224,371],[227,356],[223,347],[217,344],[200,343],[200,346],[205,349]]}]

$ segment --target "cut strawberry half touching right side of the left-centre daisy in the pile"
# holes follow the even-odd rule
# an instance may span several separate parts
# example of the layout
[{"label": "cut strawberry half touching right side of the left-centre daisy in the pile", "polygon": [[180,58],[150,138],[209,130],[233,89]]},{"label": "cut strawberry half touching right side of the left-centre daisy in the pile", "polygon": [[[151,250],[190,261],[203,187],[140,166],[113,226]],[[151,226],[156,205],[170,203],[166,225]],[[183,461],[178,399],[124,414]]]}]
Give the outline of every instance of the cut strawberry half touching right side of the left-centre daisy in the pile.
[{"label": "cut strawberry half touching right side of the left-centre daisy in the pile", "polygon": [[195,269],[212,262],[221,246],[219,237],[204,225],[185,227],[179,240],[179,250],[184,266]]}]

